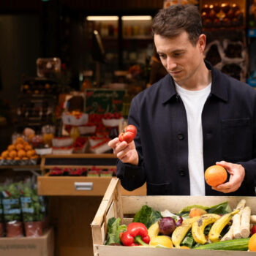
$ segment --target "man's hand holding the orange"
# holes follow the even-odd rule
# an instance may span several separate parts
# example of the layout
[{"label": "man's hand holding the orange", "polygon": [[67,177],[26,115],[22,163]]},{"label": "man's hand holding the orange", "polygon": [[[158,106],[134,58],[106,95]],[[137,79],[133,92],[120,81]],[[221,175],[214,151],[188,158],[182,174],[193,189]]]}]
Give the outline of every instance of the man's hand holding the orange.
[{"label": "man's hand holding the orange", "polygon": [[223,193],[230,193],[234,192],[241,186],[242,182],[244,181],[245,170],[242,165],[233,164],[231,162],[217,162],[216,165],[221,165],[225,167],[228,173],[230,173],[230,180],[224,184],[220,184],[217,187],[211,187],[214,190]]}]

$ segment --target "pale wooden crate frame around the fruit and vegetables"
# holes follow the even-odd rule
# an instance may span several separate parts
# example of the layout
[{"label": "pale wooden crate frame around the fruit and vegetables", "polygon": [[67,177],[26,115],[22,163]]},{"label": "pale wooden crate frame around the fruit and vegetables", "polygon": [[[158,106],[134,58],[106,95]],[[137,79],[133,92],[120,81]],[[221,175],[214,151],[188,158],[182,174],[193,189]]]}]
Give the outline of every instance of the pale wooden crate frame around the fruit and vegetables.
[{"label": "pale wooden crate frame around the fruit and vegetables", "polygon": [[227,201],[230,208],[236,208],[238,202],[244,198],[246,206],[250,206],[252,214],[256,214],[256,197],[227,197],[227,196],[121,196],[121,185],[118,178],[112,178],[97,214],[91,223],[94,255],[97,256],[249,256],[255,252],[217,251],[195,249],[166,249],[146,248],[141,246],[105,246],[108,219],[120,217],[121,224],[128,225],[132,218],[127,214],[135,214],[141,206],[148,205],[154,210],[178,213],[185,206],[194,204],[201,206],[214,206]]}]

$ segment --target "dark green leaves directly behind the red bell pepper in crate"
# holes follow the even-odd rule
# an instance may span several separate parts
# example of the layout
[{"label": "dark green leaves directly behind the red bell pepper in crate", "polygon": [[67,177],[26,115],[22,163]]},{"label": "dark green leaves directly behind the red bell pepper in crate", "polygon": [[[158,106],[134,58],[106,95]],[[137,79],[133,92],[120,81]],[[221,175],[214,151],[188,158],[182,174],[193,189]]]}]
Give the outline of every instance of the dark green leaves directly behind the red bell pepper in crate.
[{"label": "dark green leaves directly behind the red bell pepper in crate", "polygon": [[132,222],[141,222],[148,228],[161,218],[162,215],[159,211],[154,211],[153,208],[144,205],[140,208],[140,211],[135,214]]}]

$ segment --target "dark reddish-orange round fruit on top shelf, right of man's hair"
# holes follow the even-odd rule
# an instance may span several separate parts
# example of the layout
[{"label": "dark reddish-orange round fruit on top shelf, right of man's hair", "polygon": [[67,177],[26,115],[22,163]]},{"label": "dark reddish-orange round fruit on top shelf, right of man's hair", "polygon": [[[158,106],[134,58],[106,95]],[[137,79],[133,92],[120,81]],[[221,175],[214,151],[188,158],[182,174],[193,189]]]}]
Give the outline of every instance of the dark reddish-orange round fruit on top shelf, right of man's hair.
[{"label": "dark reddish-orange round fruit on top shelf, right of man's hair", "polygon": [[244,13],[236,3],[204,4],[201,16],[205,28],[230,28],[244,25]]}]

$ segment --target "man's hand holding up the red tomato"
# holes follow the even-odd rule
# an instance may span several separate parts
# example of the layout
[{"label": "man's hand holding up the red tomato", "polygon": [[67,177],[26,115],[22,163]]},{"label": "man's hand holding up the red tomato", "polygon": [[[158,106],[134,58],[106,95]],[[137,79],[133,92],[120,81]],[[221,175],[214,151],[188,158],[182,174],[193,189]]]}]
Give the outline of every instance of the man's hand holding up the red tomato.
[{"label": "man's hand holding up the red tomato", "polygon": [[120,142],[118,138],[114,138],[113,140],[110,140],[108,146],[113,148],[113,154],[118,157],[121,162],[138,165],[139,156],[135,148],[134,140],[128,144],[126,141]]}]

